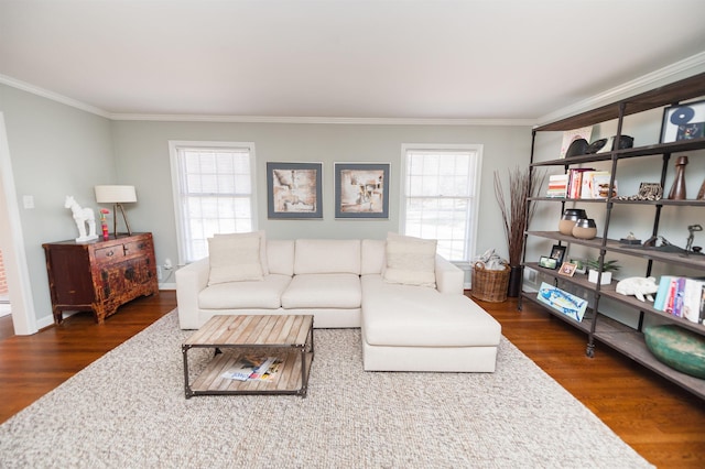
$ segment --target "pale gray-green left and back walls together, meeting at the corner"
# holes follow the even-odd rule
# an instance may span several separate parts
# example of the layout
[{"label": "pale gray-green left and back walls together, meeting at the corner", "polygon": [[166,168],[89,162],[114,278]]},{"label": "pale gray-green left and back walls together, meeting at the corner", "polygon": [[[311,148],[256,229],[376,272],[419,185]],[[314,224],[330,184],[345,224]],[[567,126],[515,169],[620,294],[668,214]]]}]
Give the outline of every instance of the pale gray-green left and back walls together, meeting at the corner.
[{"label": "pale gray-green left and back walls together, meeting at the corner", "polygon": [[[475,143],[484,145],[477,252],[495,248],[506,255],[492,175],[529,159],[529,127],[280,124],[110,121],[91,112],[0,85],[32,297],[40,326],[51,323],[42,243],[78,236],[66,195],[97,210],[96,184],[133,184],[139,201],[128,206],[134,231],[154,234],[160,264],[178,259],[169,161],[170,140],[254,142],[258,225],[271,238],[378,238],[399,229],[401,145]],[[324,219],[268,220],[264,167],[273,162],[324,163]],[[335,220],[334,162],[391,163],[389,220]],[[167,280],[169,281],[169,280]],[[173,282],[173,277],[171,280]]]}]

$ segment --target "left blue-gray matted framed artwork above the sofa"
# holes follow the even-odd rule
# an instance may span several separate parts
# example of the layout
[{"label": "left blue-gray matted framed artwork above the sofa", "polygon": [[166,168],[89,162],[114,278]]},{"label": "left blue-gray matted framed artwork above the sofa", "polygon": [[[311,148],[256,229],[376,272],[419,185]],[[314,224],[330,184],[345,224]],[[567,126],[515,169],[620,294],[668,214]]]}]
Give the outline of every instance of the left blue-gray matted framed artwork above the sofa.
[{"label": "left blue-gray matted framed artwork above the sofa", "polygon": [[323,163],[267,163],[267,216],[323,218]]}]

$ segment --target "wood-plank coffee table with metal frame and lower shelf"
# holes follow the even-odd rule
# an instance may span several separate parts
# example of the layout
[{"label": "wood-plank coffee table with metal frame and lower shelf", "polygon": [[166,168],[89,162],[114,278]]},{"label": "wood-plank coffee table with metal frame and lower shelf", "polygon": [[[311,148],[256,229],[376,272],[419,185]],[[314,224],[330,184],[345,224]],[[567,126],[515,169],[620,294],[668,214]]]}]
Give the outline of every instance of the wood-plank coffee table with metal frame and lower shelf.
[{"label": "wood-plank coffee table with metal frame and lower shelf", "polygon": [[[191,382],[188,350],[212,348],[214,358]],[[186,399],[219,394],[306,396],[313,361],[312,315],[214,316],[182,345]],[[224,378],[246,353],[275,356],[282,363],[270,381]]]}]

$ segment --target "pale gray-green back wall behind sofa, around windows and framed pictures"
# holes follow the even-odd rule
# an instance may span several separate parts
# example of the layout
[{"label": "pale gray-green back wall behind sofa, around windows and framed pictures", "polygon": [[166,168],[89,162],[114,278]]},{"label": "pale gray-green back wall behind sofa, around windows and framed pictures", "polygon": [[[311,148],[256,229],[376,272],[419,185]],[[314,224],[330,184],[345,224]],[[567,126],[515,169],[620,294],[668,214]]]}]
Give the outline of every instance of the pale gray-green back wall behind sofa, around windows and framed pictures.
[{"label": "pale gray-green back wall behind sofa, around windows and framed pictures", "polygon": [[[129,207],[135,231],[152,231],[159,264],[176,261],[177,247],[170,173],[170,140],[253,142],[257,152],[259,229],[273,239],[377,238],[399,230],[402,143],[477,143],[484,145],[477,252],[496,248],[507,254],[494,192],[494,172],[527,165],[529,127],[390,126],[308,123],[214,123],[116,121],[112,126],[117,174],[133,184],[139,203]],[[323,220],[267,218],[267,162],[323,162]],[[336,220],[334,162],[390,162],[389,220]]]}]

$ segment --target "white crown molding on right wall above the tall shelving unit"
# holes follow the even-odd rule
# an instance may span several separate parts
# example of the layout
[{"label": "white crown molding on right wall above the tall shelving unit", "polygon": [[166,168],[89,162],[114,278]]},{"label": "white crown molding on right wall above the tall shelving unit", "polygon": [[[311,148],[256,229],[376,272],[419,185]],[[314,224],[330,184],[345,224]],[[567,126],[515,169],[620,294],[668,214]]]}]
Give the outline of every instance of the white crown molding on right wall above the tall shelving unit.
[{"label": "white crown molding on right wall above the tall shelving unit", "polygon": [[563,109],[558,109],[538,119],[538,126],[554,122],[600,106],[609,105],[619,99],[628,98],[642,91],[648,91],[659,86],[668,85],[682,78],[705,72],[705,52],[692,55],[683,61],[643,75],[631,81],[608,89],[582,101],[575,102]]}]

